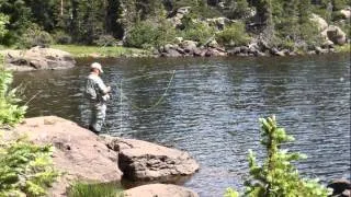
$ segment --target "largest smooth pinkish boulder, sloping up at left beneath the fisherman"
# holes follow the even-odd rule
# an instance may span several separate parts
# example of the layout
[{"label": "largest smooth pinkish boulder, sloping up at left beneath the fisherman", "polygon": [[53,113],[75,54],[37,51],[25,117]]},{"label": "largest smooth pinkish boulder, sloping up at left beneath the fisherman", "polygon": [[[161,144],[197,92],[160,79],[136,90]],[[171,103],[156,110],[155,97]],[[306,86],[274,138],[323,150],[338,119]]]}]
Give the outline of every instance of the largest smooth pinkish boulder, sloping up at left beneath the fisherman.
[{"label": "largest smooth pinkish boulder, sloping up at left beneath the fisherman", "polygon": [[56,116],[27,118],[12,134],[27,135],[35,143],[55,147],[53,162],[63,176],[49,190],[52,197],[66,196],[67,187],[77,179],[107,183],[122,178],[117,153],[72,121]]}]

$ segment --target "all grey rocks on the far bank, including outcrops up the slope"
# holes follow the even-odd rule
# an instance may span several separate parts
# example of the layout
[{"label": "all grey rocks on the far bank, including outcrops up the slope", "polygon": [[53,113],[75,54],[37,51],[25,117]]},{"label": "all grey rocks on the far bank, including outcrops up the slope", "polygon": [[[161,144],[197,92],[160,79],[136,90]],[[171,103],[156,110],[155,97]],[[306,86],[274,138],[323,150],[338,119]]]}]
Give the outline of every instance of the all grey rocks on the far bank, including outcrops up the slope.
[{"label": "all grey rocks on the far bank, including outcrops up the slope", "polygon": [[[180,8],[173,18],[168,19],[174,26],[181,25],[181,20],[189,14],[190,7]],[[342,10],[342,14],[347,20],[350,20],[351,9]],[[222,56],[296,56],[296,55],[314,55],[314,54],[329,54],[335,53],[336,45],[350,45],[348,35],[336,25],[330,25],[325,19],[317,14],[312,14],[309,19],[318,28],[321,45],[314,47],[308,46],[304,40],[294,43],[295,47],[284,48],[275,47],[267,40],[263,34],[254,35],[247,45],[237,46],[230,43],[220,46],[215,36],[208,39],[205,44],[200,44],[194,40],[183,40],[182,37],[176,37],[172,44],[167,44],[154,50],[155,57],[222,57]],[[226,18],[205,19],[204,21],[196,21],[196,23],[204,23],[207,26],[213,26],[216,30],[224,30],[225,26],[235,24],[238,21]],[[250,25],[249,25],[250,26]],[[251,25],[252,26],[252,25]],[[254,24],[253,24],[254,26]],[[250,27],[248,27],[250,28]],[[296,50],[292,48],[303,48],[304,50]]]}]

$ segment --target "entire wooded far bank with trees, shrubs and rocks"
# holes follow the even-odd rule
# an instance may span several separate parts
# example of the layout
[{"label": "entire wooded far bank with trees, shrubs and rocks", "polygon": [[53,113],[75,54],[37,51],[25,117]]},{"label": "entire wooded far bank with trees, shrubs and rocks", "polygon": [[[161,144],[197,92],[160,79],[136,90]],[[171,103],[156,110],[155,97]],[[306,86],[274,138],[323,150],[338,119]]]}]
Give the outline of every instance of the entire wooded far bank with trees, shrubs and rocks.
[{"label": "entire wooded far bank with trees, shrubs and rocks", "polygon": [[123,47],[167,57],[325,54],[349,42],[350,5],[350,0],[3,0],[0,45],[55,44],[73,53],[63,45],[111,47],[95,53],[111,57],[143,54]]}]

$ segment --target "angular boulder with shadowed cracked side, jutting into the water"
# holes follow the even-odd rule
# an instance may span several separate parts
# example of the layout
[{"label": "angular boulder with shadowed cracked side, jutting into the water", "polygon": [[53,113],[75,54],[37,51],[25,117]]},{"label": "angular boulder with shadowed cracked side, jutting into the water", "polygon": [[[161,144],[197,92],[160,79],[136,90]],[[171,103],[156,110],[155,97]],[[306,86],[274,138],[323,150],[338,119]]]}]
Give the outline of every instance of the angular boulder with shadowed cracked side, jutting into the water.
[{"label": "angular boulder with shadowed cracked side, jutting into the water", "polygon": [[103,137],[107,147],[118,152],[118,166],[132,181],[169,181],[199,170],[189,153],[135,139]]}]

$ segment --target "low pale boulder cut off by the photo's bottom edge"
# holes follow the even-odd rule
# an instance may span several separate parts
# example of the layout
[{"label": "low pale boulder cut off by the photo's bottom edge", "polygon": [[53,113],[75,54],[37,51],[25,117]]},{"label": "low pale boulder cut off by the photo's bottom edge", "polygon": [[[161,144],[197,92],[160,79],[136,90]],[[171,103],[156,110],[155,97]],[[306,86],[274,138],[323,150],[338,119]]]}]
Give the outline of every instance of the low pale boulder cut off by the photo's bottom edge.
[{"label": "low pale boulder cut off by the photo's bottom edge", "polygon": [[150,184],[127,189],[124,197],[199,197],[199,195],[185,187],[178,185]]}]

